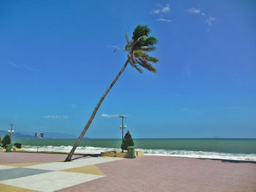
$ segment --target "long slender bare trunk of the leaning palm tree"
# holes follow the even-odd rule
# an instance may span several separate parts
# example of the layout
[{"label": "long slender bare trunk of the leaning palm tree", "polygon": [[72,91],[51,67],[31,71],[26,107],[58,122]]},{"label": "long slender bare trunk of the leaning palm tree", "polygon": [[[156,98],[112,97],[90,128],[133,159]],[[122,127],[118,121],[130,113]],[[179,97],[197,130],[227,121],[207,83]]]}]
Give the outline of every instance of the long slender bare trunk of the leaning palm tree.
[{"label": "long slender bare trunk of the leaning palm tree", "polygon": [[75,153],[75,149],[78,147],[79,143],[81,142],[81,140],[83,139],[84,134],[86,134],[87,129],[89,128],[89,126],[91,125],[91,121],[94,120],[94,116],[97,113],[97,110],[99,110],[99,106],[100,104],[102,104],[102,101],[105,99],[105,97],[107,96],[108,92],[110,91],[110,89],[113,87],[113,85],[116,83],[116,81],[118,80],[118,78],[120,77],[120,75],[122,74],[122,72],[124,72],[124,69],[127,67],[127,64],[129,63],[129,58],[127,59],[127,62],[124,64],[123,68],[121,69],[121,71],[117,74],[116,78],[113,80],[113,82],[110,84],[110,86],[108,87],[107,91],[105,91],[104,95],[102,96],[102,98],[99,100],[97,106],[94,109],[94,112],[92,112],[91,114],[91,118],[89,119],[88,123],[86,124],[85,128],[83,128],[82,133],[80,134],[80,136],[78,137],[78,140],[75,142],[75,145],[72,147],[72,150],[70,150],[69,155],[67,155],[67,158],[65,159],[66,161],[71,161],[72,155]]}]

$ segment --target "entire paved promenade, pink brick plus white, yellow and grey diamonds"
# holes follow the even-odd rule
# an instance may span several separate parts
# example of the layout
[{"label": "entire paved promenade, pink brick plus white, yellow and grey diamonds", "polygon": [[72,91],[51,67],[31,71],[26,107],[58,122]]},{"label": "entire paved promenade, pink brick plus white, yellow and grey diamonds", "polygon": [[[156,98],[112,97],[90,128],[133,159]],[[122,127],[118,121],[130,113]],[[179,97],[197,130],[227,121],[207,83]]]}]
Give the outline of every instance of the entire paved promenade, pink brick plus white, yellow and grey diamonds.
[{"label": "entire paved promenade, pink brick plus white, yellow and grey diamonds", "polygon": [[[20,155],[23,164],[10,167],[0,158],[0,191],[3,192],[256,191],[256,164],[250,162],[161,156],[120,161],[119,158],[80,158],[78,155],[69,163],[37,164],[29,153],[12,155]],[[26,158],[32,161],[30,165],[26,164]],[[62,159],[61,156],[54,158]]]}]

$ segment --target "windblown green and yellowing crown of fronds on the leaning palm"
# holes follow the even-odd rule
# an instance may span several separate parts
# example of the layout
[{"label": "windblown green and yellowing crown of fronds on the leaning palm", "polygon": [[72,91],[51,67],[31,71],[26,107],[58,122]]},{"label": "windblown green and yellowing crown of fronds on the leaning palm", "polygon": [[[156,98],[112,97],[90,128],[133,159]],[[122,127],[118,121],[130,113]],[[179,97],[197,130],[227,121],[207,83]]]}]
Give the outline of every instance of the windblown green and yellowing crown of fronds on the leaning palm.
[{"label": "windblown green and yellowing crown of fronds on the leaning palm", "polygon": [[128,34],[126,33],[127,45],[125,50],[129,52],[129,64],[142,73],[142,66],[150,72],[157,72],[157,69],[152,66],[156,64],[159,58],[152,57],[147,53],[156,49],[153,45],[158,42],[156,37],[148,37],[151,30],[148,26],[137,26],[133,31],[132,40],[129,41]]}]

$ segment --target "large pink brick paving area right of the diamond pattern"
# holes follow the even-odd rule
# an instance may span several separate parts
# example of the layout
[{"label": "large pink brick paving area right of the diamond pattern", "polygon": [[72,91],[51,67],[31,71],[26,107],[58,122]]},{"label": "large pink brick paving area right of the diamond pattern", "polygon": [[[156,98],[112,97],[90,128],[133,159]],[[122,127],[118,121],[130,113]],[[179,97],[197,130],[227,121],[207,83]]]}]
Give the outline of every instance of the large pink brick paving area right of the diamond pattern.
[{"label": "large pink brick paving area right of the diamond pattern", "polygon": [[97,164],[106,177],[60,191],[256,191],[256,164],[144,156]]}]

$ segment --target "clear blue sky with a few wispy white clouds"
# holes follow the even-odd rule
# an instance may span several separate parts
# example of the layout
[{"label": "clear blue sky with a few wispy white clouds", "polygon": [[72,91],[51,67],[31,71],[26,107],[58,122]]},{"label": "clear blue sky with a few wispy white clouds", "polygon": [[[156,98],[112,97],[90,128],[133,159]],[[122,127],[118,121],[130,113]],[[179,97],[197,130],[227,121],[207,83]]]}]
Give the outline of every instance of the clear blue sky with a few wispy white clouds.
[{"label": "clear blue sky with a few wispy white clouds", "polygon": [[256,137],[255,1],[1,1],[0,130],[80,134],[138,24],[157,74],[128,66],[86,137]]}]

